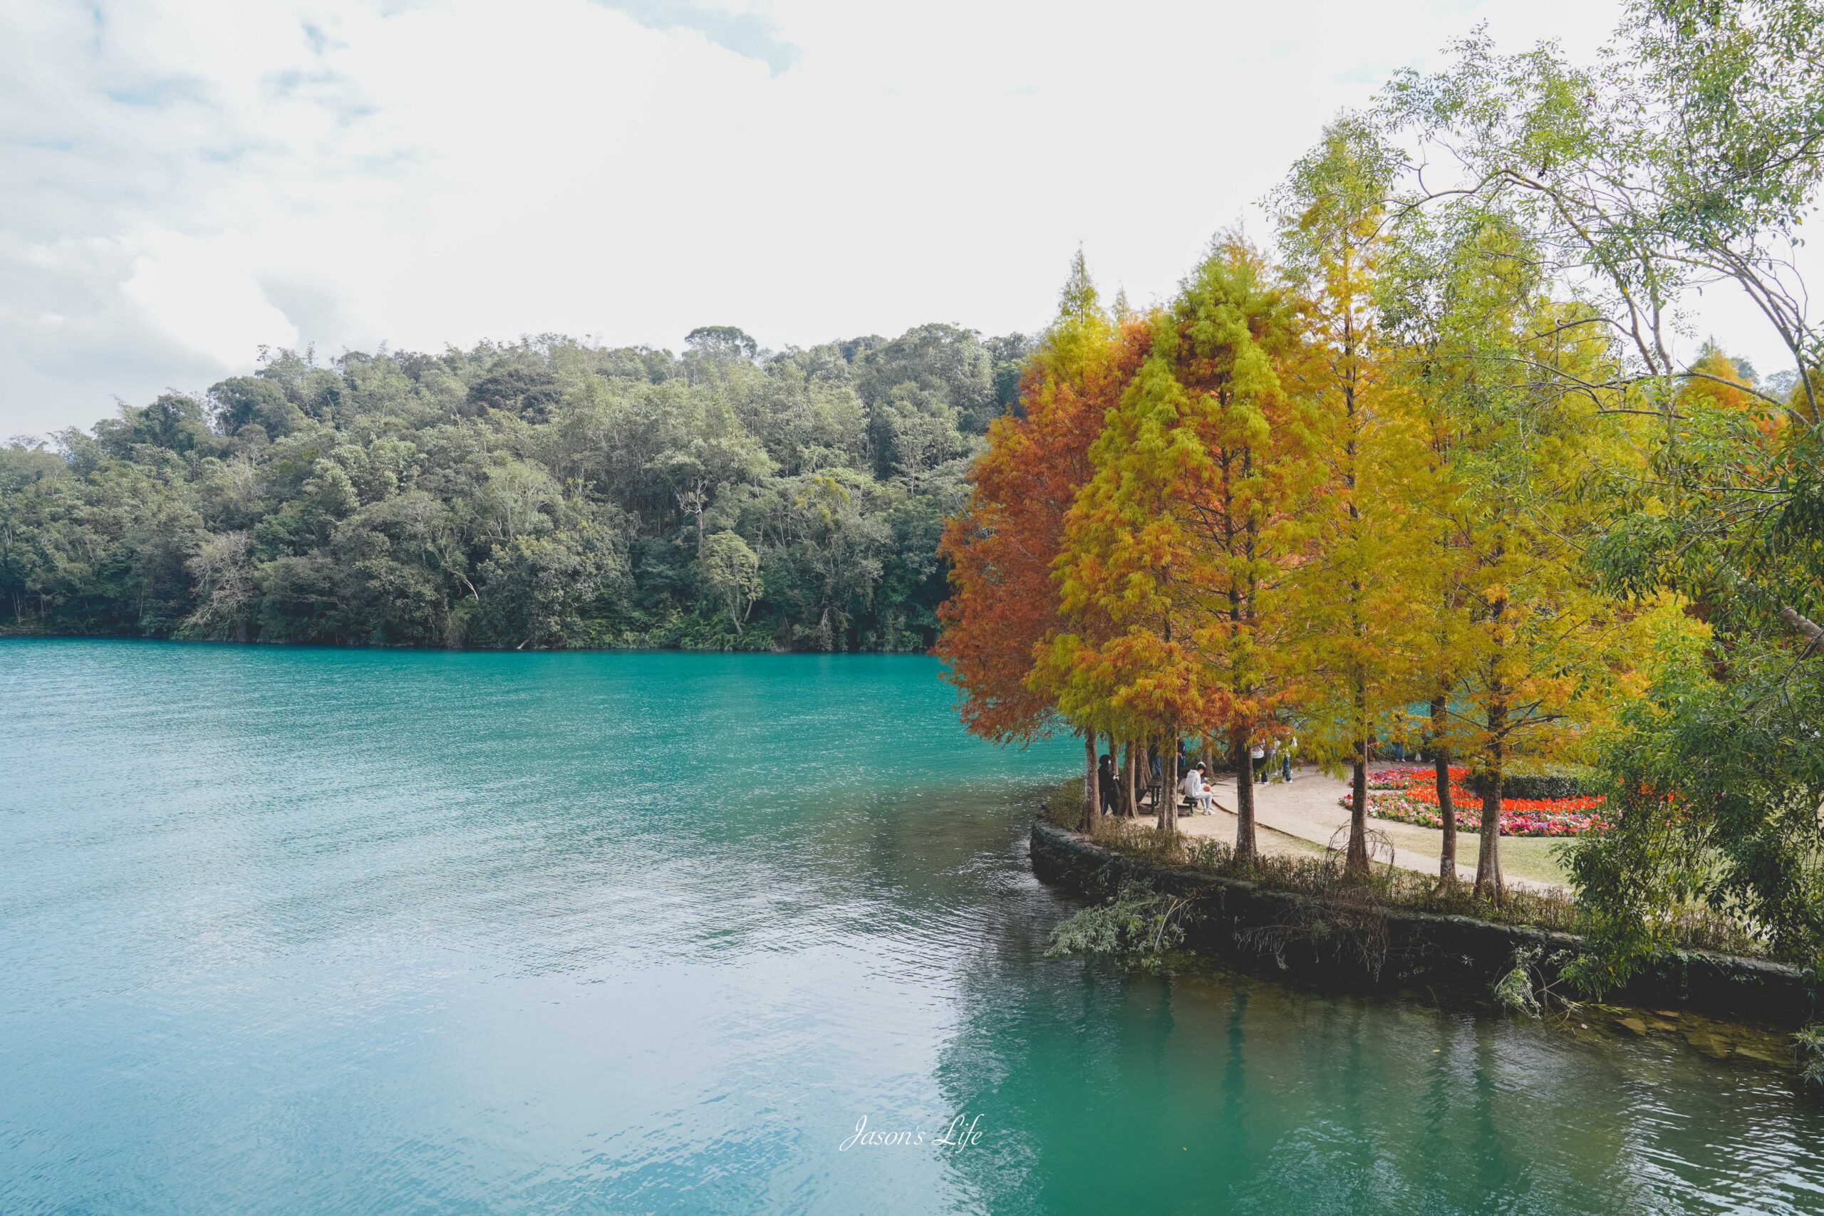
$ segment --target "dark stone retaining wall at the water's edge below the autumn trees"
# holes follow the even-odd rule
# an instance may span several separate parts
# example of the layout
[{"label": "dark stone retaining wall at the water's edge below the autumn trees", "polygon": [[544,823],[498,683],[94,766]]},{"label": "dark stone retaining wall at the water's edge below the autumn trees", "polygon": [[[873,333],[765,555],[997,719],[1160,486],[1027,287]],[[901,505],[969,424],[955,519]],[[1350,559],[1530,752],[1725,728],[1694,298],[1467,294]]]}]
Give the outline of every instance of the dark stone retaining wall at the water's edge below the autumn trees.
[{"label": "dark stone retaining wall at the water's edge below the autumn trees", "polygon": [[[1512,968],[1516,948],[1543,946],[1547,953],[1581,948],[1581,939],[1570,933],[1353,906],[1151,866],[1043,820],[1032,824],[1032,871],[1098,899],[1127,881],[1151,882],[1193,901],[1197,917],[1187,928],[1193,950],[1350,986],[1423,983],[1487,994]],[[1609,999],[1773,1026],[1798,1026],[1819,1015],[1806,972],[1704,952],[1665,959]]]}]

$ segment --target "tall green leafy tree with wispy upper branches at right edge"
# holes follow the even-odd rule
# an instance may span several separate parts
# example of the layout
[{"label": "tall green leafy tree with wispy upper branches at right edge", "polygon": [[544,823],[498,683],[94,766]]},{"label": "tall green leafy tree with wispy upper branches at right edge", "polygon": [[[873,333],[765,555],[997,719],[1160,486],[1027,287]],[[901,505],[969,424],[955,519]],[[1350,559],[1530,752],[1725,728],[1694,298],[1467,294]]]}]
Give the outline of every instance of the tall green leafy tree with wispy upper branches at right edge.
[{"label": "tall green leafy tree with wispy upper branches at right edge", "polygon": [[[1539,263],[1583,284],[1592,308],[1567,321],[1623,343],[1601,376],[1539,366],[1541,381],[1656,423],[1636,436],[1647,470],[1618,489],[1592,558],[1618,594],[1680,596],[1707,633],[1707,660],[1700,678],[1684,651],[1667,658],[1649,704],[1625,716],[1609,751],[1616,833],[1576,862],[1616,974],[1660,941],[1654,919],[1667,910],[1629,891],[1707,897],[1757,917],[1798,906],[1793,893],[1813,881],[1800,840],[1815,835],[1809,773],[1820,762],[1802,707],[1824,680],[1813,662],[1824,341],[1789,257],[1824,175],[1824,11],[1808,0],[1651,0],[1629,7],[1622,33],[1600,69],[1552,47],[1501,57],[1476,38],[1446,71],[1408,73],[1388,98],[1395,122],[1448,146],[1465,170],[1415,190],[1414,206],[1507,208]],[[1682,310],[1724,288],[1744,292],[1789,352],[1789,396],[1682,348]],[[1795,764],[1789,747],[1804,758]],[[1747,800],[1716,800],[1718,757],[1762,757],[1775,784],[1757,778],[1740,786]],[[1804,917],[1757,922],[1798,953],[1815,957],[1824,941]]]}]

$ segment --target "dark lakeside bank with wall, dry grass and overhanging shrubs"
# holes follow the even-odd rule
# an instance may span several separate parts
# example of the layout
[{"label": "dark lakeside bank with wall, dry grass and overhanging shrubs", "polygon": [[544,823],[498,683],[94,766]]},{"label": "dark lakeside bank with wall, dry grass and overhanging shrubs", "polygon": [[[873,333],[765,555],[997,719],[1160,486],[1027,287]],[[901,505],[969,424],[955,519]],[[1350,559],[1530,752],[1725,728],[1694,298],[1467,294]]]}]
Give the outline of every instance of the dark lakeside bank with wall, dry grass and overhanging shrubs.
[{"label": "dark lakeside bank with wall, dry grass and overhanging shrubs", "polygon": [[[1426,988],[1434,999],[1448,992],[1570,1025],[1612,1019],[1640,1036],[1649,1023],[1671,1030],[1663,1023],[1684,1010],[1778,1030],[1766,1037],[1771,1063],[1798,1065],[1809,1079],[1809,1034],[1798,1028],[1815,1015],[1817,992],[1798,968],[1735,953],[1731,946],[1753,944],[1724,924],[1687,924],[1680,952],[1625,986],[1585,994],[1576,917],[1561,897],[1496,906],[1463,888],[1401,890],[1390,868],[1363,884],[1342,875],[1335,855],[1237,860],[1215,842],[1166,851],[1147,835],[1116,828],[1089,837],[1060,826],[1049,808],[1034,817],[1036,875],[1102,901],[1058,926],[1052,955],[1100,953],[1127,968],[1173,972],[1189,953],[1326,988]],[[1651,1015],[1642,1021],[1638,1010]]]}]

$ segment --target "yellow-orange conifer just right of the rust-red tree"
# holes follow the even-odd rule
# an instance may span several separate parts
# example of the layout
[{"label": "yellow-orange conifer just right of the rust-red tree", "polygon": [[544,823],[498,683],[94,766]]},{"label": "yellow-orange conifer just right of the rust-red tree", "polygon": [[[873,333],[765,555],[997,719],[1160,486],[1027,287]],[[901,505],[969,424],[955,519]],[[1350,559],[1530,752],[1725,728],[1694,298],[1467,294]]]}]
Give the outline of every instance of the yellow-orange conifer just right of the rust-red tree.
[{"label": "yellow-orange conifer just right of the rust-red tree", "polygon": [[[1173,306],[1147,319],[1145,361],[1091,447],[1058,556],[1073,625],[1036,685],[1067,713],[1167,744],[1224,735],[1237,764],[1237,851],[1255,851],[1249,740],[1288,685],[1279,616],[1290,507],[1310,476],[1275,359],[1295,348],[1259,253],[1218,241]],[[1167,769],[1167,780],[1176,773]],[[1162,799],[1158,828],[1176,826]]]}]

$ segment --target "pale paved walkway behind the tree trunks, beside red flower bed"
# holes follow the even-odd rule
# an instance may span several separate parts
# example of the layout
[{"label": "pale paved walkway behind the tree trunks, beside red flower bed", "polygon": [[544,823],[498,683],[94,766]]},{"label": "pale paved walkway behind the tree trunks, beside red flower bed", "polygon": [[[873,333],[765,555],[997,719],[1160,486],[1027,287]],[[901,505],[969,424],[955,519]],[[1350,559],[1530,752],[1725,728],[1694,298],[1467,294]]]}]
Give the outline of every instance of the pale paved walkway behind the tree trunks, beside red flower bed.
[{"label": "pale paved walkway behind the tree trunks, beside red flower bed", "polygon": [[[1217,840],[1235,840],[1235,777],[1218,773],[1211,782],[1217,793],[1218,809],[1215,815],[1182,815],[1178,831],[1191,837],[1213,837]],[[1291,782],[1271,780],[1255,786],[1255,822],[1271,831],[1260,833],[1260,850],[1266,853],[1310,855],[1317,850],[1342,848],[1350,835],[1350,813],[1339,799],[1348,793],[1350,784],[1337,777],[1326,777],[1313,768],[1299,768],[1291,773]],[[1151,815],[1142,809],[1140,822],[1149,822]],[[1437,873],[1443,853],[1445,833],[1437,828],[1419,828],[1415,824],[1397,824],[1390,819],[1370,819],[1370,833],[1381,833],[1392,848],[1392,862],[1419,873]],[[1372,837],[1370,837],[1372,840]],[[1457,877],[1465,882],[1476,881],[1476,848],[1479,837],[1472,833],[1457,835]],[[1510,886],[1563,888],[1563,868],[1550,853],[1552,840],[1529,837],[1501,837],[1501,871]],[[1383,851],[1375,860],[1388,860]],[[1468,862],[1468,864],[1463,864]]]}]

